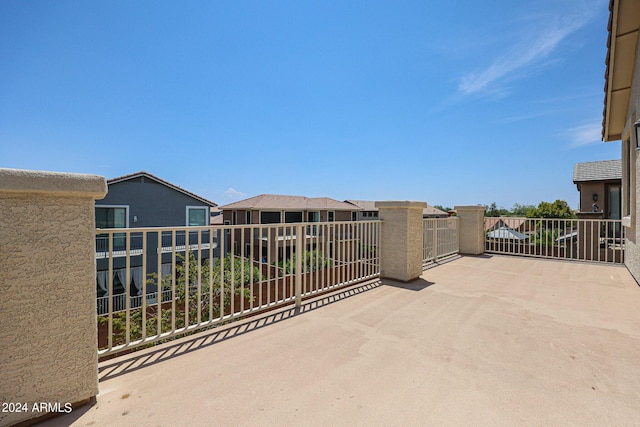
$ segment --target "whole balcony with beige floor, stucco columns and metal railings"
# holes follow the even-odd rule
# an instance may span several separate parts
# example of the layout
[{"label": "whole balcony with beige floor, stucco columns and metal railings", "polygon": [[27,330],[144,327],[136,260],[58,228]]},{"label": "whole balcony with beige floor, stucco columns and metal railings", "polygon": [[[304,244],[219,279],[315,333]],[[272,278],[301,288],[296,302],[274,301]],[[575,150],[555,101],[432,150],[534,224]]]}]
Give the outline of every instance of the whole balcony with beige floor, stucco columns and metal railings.
[{"label": "whole balcony with beige floor, stucco columns and metal railings", "polygon": [[[14,226],[1,230],[11,262],[0,390],[30,406],[0,413],[2,425],[48,413],[59,415],[50,425],[640,419],[640,291],[628,270],[606,256],[579,262],[589,260],[580,249],[566,260],[536,258],[555,250],[482,256],[482,207],[457,206],[459,219],[437,223],[423,221],[424,203],[378,202],[380,221],[341,225],[348,239],[296,224],[296,238],[273,249],[254,244],[251,228],[262,226],[194,227],[184,232],[195,247],[185,239],[182,251],[180,230],[92,230],[99,177],[4,173],[28,182],[5,199]],[[582,224],[578,236],[589,230],[595,246],[577,248],[618,250],[615,232]],[[104,233],[110,252],[125,233],[124,256],[96,259]],[[142,233],[140,255],[131,233]],[[218,247],[202,247],[214,235]],[[96,286],[126,295],[125,306],[109,297],[98,316]],[[77,404],[70,414],[55,410],[67,404]]]}]

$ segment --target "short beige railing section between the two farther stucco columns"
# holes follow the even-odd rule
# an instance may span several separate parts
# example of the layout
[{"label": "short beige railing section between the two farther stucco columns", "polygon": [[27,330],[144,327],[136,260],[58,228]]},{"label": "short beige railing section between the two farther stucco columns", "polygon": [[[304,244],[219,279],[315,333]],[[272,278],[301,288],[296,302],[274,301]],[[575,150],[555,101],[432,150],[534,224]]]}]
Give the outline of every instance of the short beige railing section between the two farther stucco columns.
[{"label": "short beige railing section between the two farther stucco columns", "polygon": [[458,221],[456,217],[423,220],[423,264],[458,253],[460,250]]}]

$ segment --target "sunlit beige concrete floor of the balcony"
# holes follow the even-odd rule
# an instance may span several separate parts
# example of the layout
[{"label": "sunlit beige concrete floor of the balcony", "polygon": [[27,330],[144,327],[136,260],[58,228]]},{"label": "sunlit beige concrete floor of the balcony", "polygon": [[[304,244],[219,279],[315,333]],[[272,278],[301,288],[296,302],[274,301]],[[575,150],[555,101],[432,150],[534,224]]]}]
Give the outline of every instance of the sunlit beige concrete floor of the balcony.
[{"label": "sunlit beige concrete floor of the balcony", "polygon": [[460,257],[100,364],[44,425],[637,425],[624,267]]}]

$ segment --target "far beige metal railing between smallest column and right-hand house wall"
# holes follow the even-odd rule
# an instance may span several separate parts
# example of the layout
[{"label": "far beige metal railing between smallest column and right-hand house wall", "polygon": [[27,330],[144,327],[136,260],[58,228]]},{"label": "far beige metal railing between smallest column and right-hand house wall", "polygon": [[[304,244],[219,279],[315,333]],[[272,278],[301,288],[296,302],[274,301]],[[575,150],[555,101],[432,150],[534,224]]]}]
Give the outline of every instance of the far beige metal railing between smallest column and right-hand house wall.
[{"label": "far beige metal railing between smallest column and right-hand house wall", "polygon": [[620,220],[485,218],[485,251],[604,263],[624,263]]}]

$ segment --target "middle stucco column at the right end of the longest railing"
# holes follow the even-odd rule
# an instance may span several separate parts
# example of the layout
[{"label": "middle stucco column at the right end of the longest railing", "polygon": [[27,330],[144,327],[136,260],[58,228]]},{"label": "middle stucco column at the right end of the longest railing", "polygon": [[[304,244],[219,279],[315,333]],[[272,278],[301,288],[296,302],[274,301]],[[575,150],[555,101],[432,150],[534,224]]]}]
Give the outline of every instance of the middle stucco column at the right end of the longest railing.
[{"label": "middle stucco column at the right end of the longest railing", "polygon": [[376,202],[382,220],[380,270],[385,279],[409,282],[422,274],[424,202]]}]

